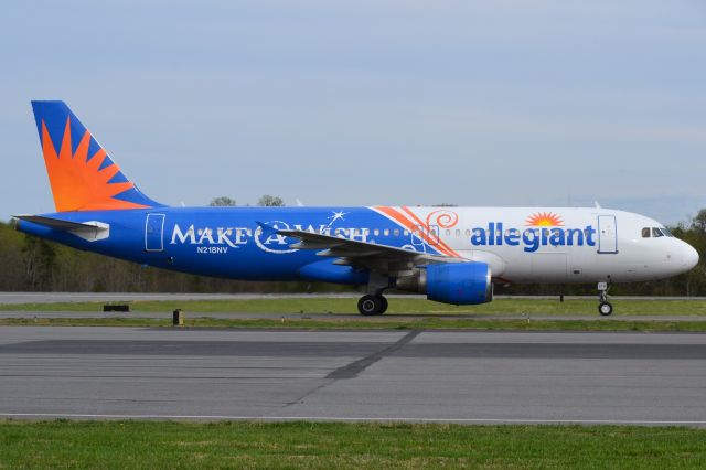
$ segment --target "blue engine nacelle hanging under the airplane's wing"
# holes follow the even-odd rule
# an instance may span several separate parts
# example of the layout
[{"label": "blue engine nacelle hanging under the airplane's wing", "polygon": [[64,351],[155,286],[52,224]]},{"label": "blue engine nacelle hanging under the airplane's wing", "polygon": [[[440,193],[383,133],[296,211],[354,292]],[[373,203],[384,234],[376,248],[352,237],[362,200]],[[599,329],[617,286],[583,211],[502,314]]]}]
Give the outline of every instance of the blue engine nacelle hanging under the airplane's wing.
[{"label": "blue engine nacelle hanging under the airplane's wing", "polygon": [[493,300],[491,270],[485,263],[429,265],[414,276],[397,279],[396,287],[426,293],[429,300],[457,306]]}]

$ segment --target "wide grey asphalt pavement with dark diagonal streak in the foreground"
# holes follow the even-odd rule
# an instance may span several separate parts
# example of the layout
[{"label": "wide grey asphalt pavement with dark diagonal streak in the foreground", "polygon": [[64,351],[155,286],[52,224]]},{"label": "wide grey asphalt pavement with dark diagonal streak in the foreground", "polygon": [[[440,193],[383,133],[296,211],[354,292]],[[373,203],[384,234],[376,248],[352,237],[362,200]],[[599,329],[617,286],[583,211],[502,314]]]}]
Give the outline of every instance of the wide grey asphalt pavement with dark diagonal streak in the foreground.
[{"label": "wide grey asphalt pavement with dark diagonal streak in the foreground", "polygon": [[0,328],[0,416],[706,426],[706,335]]}]

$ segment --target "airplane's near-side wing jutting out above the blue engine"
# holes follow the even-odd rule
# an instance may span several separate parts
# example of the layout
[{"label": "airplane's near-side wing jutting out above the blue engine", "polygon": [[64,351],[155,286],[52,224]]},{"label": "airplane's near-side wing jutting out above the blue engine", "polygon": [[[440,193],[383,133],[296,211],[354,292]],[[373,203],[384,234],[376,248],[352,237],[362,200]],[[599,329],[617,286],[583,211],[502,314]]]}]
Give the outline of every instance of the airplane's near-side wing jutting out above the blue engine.
[{"label": "airplane's near-side wing jutting out above the blue engine", "polygon": [[336,265],[364,267],[381,274],[396,274],[430,264],[468,261],[463,258],[431,255],[396,246],[340,238],[307,231],[277,229],[276,232],[280,235],[299,238],[300,242],[290,245],[291,248],[318,249],[317,255],[319,256],[338,258],[334,261]]}]

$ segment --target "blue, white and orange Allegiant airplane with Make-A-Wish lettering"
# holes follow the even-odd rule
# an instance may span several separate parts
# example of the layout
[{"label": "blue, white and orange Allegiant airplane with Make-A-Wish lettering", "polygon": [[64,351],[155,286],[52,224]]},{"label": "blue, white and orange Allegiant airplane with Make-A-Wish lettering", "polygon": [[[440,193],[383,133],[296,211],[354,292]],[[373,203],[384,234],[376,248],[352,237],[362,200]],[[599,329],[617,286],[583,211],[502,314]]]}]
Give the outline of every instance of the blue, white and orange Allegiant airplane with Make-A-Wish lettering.
[{"label": "blue, white and orange Allegiant airplane with Make-A-Wish lettering", "polygon": [[17,229],[145,266],[243,280],[364,286],[450,305],[493,299],[495,284],[616,282],[688,271],[698,253],[659,222],[595,207],[173,207],[129,180],[63,102],[32,102],[55,212]]}]

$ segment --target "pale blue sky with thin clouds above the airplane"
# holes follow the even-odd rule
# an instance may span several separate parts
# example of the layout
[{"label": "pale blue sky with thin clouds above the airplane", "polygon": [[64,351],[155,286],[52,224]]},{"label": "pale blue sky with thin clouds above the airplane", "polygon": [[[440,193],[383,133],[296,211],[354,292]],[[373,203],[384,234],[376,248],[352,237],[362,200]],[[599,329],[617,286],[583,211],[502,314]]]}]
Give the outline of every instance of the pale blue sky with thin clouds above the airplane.
[{"label": "pale blue sky with thin clouds above the airplane", "polygon": [[706,207],[706,3],[8,2],[0,220],[53,212],[31,99],[167,204]]}]

